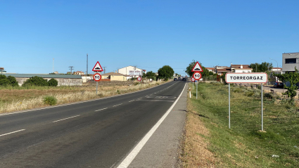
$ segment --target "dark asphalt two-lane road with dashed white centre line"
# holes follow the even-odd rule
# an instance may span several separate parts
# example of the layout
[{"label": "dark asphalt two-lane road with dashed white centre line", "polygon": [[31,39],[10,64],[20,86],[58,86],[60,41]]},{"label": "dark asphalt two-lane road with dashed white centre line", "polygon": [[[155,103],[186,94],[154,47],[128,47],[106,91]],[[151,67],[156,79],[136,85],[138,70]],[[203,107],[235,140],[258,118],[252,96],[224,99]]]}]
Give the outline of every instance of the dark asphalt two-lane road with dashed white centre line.
[{"label": "dark asphalt two-lane road with dashed white centre line", "polygon": [[0,114],[0,167],[117,167],[185,84],[168,82],[111,98]]}]

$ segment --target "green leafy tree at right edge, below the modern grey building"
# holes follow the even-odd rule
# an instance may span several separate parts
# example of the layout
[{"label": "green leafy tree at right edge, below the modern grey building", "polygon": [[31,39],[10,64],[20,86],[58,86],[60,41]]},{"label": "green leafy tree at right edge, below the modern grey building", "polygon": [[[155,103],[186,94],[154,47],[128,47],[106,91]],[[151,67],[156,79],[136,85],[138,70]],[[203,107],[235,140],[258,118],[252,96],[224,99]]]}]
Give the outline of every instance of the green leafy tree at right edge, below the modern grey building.
[{"label": "green leafy tree at right edge, below the modern grey building", "polygon": [[[297,68],[295,67],[295,72],[286,72],[285,74],[274,74],[274,76],[278,77],[282,82],[284,82],[284,88],[287,89],[284,94],[288,95],[293,101],[294,97],[297,95],[298,86],[296,84],[299,82],[299,73]],[[290,86],[286,86],[286,82],[290,82]]]}]

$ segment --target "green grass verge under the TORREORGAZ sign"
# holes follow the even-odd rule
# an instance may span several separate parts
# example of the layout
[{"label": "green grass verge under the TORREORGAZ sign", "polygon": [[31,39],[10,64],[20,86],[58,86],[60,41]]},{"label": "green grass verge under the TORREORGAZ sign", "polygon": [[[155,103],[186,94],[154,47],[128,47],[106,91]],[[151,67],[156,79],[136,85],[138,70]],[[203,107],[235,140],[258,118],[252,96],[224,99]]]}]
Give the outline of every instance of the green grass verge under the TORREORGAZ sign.
[{"label": "green grass verge under the TORREORGAZ sign", "polygon": [[299,167],[298,108],[274,102],[264,99],[262,132],[260,91],[231,86],[229,129],[228,86],[198,84],[198,99],[193,96],[191,105],[210,130],[209,150],[222,162],[217,167]]}]

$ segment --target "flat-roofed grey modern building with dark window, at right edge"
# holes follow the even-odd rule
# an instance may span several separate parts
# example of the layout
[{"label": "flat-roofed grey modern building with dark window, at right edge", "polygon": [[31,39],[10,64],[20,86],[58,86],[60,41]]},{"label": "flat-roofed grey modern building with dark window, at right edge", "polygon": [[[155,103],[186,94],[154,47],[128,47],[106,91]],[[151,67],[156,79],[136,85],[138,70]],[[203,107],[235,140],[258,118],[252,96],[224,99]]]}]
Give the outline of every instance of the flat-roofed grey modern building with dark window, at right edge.
[{"label": "flat-roofed grey modern building with dark window, at right edge", "polygon": [[282,73],[295,72],[295,67],[299,70],[299,53],[282,54]]}]

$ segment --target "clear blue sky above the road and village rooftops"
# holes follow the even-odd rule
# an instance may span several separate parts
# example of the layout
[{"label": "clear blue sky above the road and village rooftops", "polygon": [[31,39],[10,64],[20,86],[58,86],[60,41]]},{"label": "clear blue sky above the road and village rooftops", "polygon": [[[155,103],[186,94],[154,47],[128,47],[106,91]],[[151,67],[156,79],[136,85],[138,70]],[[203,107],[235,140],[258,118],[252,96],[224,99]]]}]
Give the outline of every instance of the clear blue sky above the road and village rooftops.
[{"label": "clear blue sky above the road and village rooftops", "polygon": [[[299,52],[299,1],[0,0],[0,67],[8,73],[106,72],[129,65],[174,72],[273,63]],[[53,63],[54,58],[54,63]],[[274,60],[270,60],[272,58]]]}]

